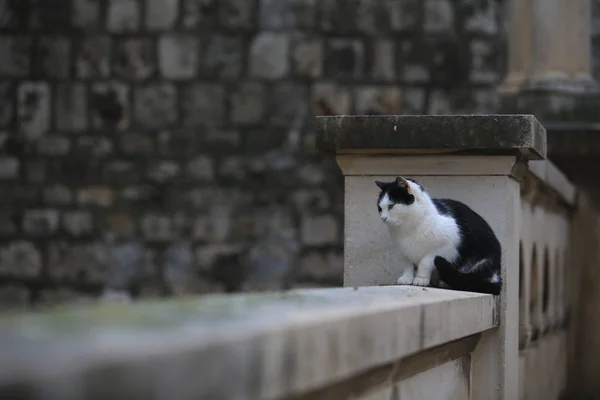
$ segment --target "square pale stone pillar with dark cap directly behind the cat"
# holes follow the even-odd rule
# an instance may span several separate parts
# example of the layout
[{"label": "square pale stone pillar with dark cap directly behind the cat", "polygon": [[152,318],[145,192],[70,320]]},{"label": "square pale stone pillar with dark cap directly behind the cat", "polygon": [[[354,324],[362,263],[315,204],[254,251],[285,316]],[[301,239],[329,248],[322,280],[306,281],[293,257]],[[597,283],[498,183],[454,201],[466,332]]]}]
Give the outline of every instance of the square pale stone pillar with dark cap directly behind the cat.
[{"label": "square pale stone pillar with dark cap directly behind the cat", "polygon": [[461,200],[502,244],[500,326],[472,357],[474,399],[518,398],[519,233],[523,161],[545,157],[533,116],[320,117],[317,145],[336,154],[345,178],[344,285],[395,284],[401,266],[376,208],[374,180],[415,178],[433,197]]}]

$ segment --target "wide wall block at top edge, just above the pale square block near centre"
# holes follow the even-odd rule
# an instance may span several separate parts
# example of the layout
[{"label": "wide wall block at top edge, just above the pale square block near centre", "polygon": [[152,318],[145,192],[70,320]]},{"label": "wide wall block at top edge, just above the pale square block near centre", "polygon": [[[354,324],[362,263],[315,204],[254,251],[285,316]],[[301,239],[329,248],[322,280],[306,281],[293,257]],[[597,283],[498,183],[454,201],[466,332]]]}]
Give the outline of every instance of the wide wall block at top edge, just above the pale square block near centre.
[{"label": "wide wall block at top edge, just above the pale square block near centre", "polygon": [[262,29],[311,29],[317,16],[316,0],[260,0]]}]

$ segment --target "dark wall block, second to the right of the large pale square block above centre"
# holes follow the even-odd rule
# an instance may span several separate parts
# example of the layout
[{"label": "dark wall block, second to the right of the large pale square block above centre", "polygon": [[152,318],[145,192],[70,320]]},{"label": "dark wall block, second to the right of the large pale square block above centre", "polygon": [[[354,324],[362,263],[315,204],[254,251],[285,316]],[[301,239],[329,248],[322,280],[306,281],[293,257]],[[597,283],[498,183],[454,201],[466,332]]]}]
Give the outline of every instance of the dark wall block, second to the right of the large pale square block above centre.
[{"label": "dark wall block, second to the right of the large pale square block above centre", "polygon": [[365,69],[364,46],[360,40],[331,39],[325,58],[325,71],[332,78],[362,78]]}]

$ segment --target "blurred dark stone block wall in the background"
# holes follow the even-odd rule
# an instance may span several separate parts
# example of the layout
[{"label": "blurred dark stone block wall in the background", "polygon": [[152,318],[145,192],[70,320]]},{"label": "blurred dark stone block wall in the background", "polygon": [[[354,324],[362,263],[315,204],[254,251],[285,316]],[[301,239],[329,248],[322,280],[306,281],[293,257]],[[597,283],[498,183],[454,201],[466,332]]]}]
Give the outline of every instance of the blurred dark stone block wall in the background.
[{"label": "blurred dark stone block wall in the background", "polygon": [[0,304],[339,285],[312,116],[494,111],[501,5],[0,0]]}]

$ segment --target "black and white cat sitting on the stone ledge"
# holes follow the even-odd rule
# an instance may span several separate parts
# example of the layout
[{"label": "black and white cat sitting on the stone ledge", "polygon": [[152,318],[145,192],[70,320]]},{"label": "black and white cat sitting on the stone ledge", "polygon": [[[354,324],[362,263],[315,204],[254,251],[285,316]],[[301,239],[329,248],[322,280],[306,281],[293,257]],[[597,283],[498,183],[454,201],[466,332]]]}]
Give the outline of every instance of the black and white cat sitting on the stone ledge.
[{"label": "black and white cat sitting on the stone ledge", "polygon": [[452,289],[500,294],[500,242],[479,214],[456,200],[432,199],[412,179],[375,183],[379,215],[406,265],[399,285],[429,286],[435,267]]}]

